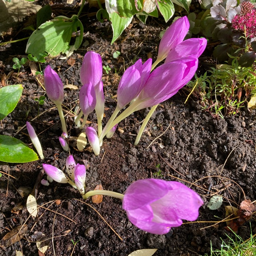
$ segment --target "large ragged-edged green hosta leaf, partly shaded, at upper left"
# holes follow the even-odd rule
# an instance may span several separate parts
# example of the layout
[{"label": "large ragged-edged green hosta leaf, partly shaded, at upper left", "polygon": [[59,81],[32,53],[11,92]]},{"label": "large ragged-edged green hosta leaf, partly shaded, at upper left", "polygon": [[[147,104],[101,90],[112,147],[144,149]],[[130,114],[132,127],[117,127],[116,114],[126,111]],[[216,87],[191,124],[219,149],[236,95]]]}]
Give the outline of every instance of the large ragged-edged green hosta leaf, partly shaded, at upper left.
[{"label": "large ragged-edged green hosta leaf, partly shaded, at upper left", "polygon": [[[80,28],[80,36],[76,38],[74,45],[69,45],[73,32]],[[77,15],[71,18],[58,16],[53,20],[42,24],[35,30],[27,43],[26,53],[31,53],[37,59],[41,59],[40,53],[47,52],[51,57],[60,53],[70,55],[78,49],[83,40],[83,25]]]}]

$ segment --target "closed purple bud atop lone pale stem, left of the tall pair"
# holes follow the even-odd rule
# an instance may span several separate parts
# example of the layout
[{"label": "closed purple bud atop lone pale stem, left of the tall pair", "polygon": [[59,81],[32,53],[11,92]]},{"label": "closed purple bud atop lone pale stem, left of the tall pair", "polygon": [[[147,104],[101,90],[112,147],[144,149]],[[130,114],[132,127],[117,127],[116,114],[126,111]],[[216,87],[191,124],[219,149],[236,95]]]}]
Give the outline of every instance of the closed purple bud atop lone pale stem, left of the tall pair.
[{"label": "closed purple bud atop lone pale stem, left of the tall pair", "polygon": [[61,104],[64,98],[63,83],[49,65],[44,70],[44,86],[48,98],[55,105]]}]

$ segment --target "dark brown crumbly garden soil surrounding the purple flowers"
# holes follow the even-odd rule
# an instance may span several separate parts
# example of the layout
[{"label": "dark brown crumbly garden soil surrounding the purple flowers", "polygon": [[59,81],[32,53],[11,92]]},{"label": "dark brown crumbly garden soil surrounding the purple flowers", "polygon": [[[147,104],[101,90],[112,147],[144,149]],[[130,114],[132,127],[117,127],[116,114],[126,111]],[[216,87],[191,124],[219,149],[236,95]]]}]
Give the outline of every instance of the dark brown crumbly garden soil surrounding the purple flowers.
[{"label": "dark brown crumbly garden soil surrounding the purple flowers", "polygon": [[[67,14],[65,6],[56,4],[52,8],[56,15]],[[88,13],[91,12],[88,9]],[[142,58],[143,62],[149,57],[156,59],[159,33],[170,22],[165,24],[161,18],[149,17],[146,25],[143,25],[134,19],[111,45],[112,29],[109,22],[102,24],[95,16],[86,13],[82,21],[85,35],[80,49],[70,58],[47,60],[41,64],[41,68],[50,64],[65,85],[81,87],[79,71],[83,56],[89,50],[99,53],[103,65],[111,68],[109,74],[103,70],[105,124],[116,106],[117,85],[124,69],[138,58]],[[16,37],[22,38],[23,35]],[[1,76],[13,70],[13,57],[25,55],[25,42],[0,47]],[[120,52],[117,59],[113,58],[116,51]],[[208,46],[207,52],[211,51],[211,46]],[[206,55],[200,59],[199,74],[204,72],[208,60]],[[18,138],[32,148],[26,128],[19,132],[17,130],[25,125],[26,120],[37,117],[38,102],[34,99],[45,95],[40,84],[43,79],[32,75],[27,64],[22,67],[18,77],[13,73],[5,82],[23,84],[24,89],[15,110],[2,120],[0,132]],[[79,134],[73,124],[78,94],[79,90],[65,89],[63,104],[71,136]],[[70,153],[77,163],[88,161],[86,191],[101,184],[106,190],[124,193],[132,182],[152,177],[181,181],[197,191],[204,201],[196,223],[184,223],[166,235],[149,234],[129,222],[119,199],[104,196],[101,203],[94,204],[90,198],[83,201],[77,190],[67,184],[53,182],[48,187],[42,186],[40,180],[45,178],[42,163],[64,168],[69,155],[62,151],[58,142],[61,126],[57,110],[46,99],[43,105],[39,105],[39,114],[45,112],[30,121],[37,134],[40,134],[45,159],[22,164],[0,163],[2,172],[15,177],[3,175],[0,179],[0,239],[17,226],[27,225],[25,236],[19,241],[10,246],[6,246],[6,241],[0,241],[0,255],[15,255],[15,250],[22,251],[26,256],[42,255],[35,243],[40,232],[49,239],[45,255],[127,256],[142,248],[158,248],[154,254],[156,256],[193,256],[210,255],[211,246],[219,249],[221,239],[227,240],[227,233],[233,236],[226,230],[225,222],[214,223],[225,218],[225,206],[239,208],[244,195],[251,201],[256,199],[255,111],[249,112],[244,108],[237,116],[213,118],[211,114],[203,112],[193,98],[184,103],[187,95],[185,89],[180,90],[158,106],[138,146],[133,143],[149,109],[135,112],[119,123],[114,136],[103,141],[100,155],[95,156],[88,147],[82,152],[77,151],[73,141],[70,141]],[[88,120],[97,123],[95,114],[91,114]],[[30,189],[35,186],[40,207],[36,218],[29,217],[26,210],[27,195],[18,192],[24,186]],[[224,198],[218,210],[207,208],[214,194]],[[18,210],[14,209],[18,205],[21,205]],[[238,235],[247,239],[251,232],[255,233],[255,228],[252,218],[239,227]]]}]

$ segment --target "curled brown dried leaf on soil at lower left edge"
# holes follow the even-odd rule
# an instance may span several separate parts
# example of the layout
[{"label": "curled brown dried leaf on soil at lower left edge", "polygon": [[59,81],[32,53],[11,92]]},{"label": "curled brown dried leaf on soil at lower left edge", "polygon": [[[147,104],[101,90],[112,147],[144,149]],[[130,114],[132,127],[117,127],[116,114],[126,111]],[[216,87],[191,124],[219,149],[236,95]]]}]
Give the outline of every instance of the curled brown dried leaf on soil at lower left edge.
[{"label": "curled brown dried leaf on soil at lower left edge", "polygon": [[27,233],[28,227],[27,225],[19,225],[14,228],[12,231],[7,233],[1,240],[1,247],[9,247],[15,242],[22,239]]}]

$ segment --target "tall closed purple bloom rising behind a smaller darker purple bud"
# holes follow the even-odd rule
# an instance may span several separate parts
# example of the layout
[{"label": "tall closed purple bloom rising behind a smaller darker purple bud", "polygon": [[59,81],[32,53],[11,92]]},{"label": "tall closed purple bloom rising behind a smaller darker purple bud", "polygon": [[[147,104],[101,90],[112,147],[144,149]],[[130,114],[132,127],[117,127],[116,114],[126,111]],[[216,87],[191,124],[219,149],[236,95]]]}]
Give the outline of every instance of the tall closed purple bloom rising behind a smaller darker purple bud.
[{"label": "tall closed purple bloom rising behind a smaller darker purple bud", "polygon": [[91,82],[94,87],[99,86],[102,79],[102,60],[98,53],[89,51],[85,54],[80,79],[82,84]]}]

